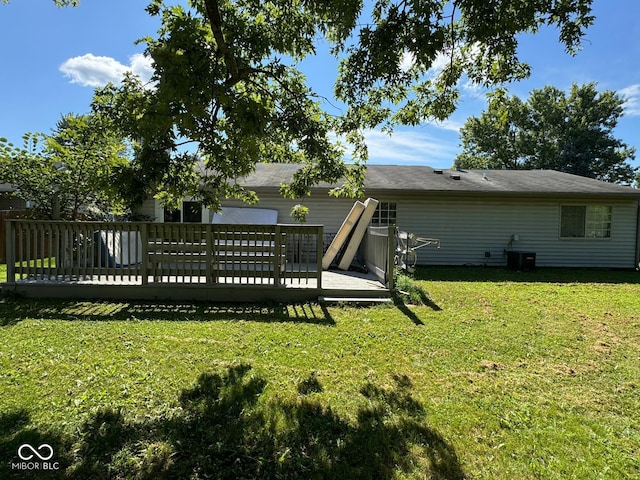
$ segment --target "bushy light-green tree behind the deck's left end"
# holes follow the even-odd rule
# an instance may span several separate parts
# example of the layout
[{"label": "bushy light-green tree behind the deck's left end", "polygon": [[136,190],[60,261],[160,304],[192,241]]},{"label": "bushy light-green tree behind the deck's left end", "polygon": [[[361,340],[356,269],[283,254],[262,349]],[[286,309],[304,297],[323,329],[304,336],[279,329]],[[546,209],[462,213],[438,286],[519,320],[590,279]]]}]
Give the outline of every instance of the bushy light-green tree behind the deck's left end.
[{"label": "bushy light-green tree behind the deck's left end", "polygon": [[0,178],[46,218],[101,216],[122,208],[113,174],[126,153],[97,117],[70,114],[51,135],[26,134],[22,148],[0,139]]}]

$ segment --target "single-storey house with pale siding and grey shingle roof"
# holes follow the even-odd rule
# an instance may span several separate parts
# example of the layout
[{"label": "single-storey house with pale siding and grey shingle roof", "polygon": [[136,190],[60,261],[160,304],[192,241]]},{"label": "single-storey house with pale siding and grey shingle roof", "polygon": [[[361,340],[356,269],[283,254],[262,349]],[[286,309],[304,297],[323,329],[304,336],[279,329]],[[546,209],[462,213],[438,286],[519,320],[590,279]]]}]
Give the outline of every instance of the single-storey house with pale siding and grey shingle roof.
[{"label": "single-storey house with pale siding and grey shingle roof", "polygon": [[[300,201],[278,194],[298,165],[259,164],[238,182],[256,191],[259,207],[276,209],[278,221]],[[352,199],[312,189],[301,202],[307,221],[335,233]],[[442,170],[426,166],[370,165],[366,195],[380,205],[372,225],[395,224],[419,237],[435,237],[439,249],[417,251],[418,265],[506,265],[509,252],[535,254],[541,267],[636,268],[640,260],[640,190],[553,170]],[[241,206],[238,201],[223,202]],[[184,202],[165,212],[147,201],[140,213],[156,221],[205,222],[211,212]]]}]

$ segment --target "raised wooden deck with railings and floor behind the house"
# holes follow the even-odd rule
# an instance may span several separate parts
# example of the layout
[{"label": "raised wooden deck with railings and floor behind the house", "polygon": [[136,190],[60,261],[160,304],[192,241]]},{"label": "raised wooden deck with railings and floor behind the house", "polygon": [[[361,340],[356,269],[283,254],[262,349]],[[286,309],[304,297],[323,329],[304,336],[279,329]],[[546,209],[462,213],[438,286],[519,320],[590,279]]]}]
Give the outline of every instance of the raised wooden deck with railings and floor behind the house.
[{"label": "raised wooden deck with railings and floor behind the house", "polygon": [[388,297],[393,288],[391,233],[365,242],[371,274],[363,274],[322,270],[319,225],[28,220],[7,225],[3,294],[290,302]]}]

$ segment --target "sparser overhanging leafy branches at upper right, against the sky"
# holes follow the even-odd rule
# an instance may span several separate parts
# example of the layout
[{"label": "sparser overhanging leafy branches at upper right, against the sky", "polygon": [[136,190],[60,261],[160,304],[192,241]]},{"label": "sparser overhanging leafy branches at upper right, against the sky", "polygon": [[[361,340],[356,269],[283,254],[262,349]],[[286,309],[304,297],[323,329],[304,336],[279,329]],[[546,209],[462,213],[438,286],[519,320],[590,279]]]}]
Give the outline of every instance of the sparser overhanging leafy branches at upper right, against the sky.
[{"label": "sparser overhanging leafy branches at upper right, against the sky", "polygon": [[372,22],[354,29],[357,40],[340,50],[336,95],[356,111],[348,115],[369,124],[444,119],[456,108],[464,77],[491,86],[529,76],[518,58],[519,35],[555,26],[575,53],[594,20],[591,3],[378,0]]}]

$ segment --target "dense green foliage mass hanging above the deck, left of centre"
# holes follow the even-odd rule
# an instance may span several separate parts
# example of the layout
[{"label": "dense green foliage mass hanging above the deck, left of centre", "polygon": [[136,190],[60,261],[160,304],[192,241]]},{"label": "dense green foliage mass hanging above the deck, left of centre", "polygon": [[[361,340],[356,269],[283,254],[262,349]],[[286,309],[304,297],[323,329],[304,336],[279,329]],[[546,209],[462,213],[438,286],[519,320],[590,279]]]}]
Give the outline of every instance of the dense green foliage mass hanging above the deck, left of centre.
[{"label": "dense green foliage mass hanging above the deck, left of centre", "polygon": [[[320,20],[305,2],[194,2],[194,9],[150,7],[162,17],[147,41],[153,88],[133,78],[98,90],[94,111],[139,143],[119,177],[126,192],[189,195],[212,208],[225,196],[253,199],[236,187],[258,162],[304,163],[289,195],[345,177],[334,122],[306,79],[282,54],[313,52]],[[187,149],[189,155],[184,153]],[[193,176],[194,166],[199,175]]]}]

